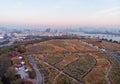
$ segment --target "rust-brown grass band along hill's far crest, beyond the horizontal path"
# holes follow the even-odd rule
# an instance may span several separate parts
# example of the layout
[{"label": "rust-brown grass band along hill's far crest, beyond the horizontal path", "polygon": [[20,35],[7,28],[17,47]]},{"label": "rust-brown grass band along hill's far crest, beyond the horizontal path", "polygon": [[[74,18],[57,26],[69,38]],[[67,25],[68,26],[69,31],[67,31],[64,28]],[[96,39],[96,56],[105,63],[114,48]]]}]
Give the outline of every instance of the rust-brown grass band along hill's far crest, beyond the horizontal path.
[{"label": "rust-brown grass band along hill's far crest, beyond the horizontal path", "polygon": [[33,53],[59,53],[59,52],[97,52],[96,49],[85,46],[78,40],[50,40],[27,47]]}]

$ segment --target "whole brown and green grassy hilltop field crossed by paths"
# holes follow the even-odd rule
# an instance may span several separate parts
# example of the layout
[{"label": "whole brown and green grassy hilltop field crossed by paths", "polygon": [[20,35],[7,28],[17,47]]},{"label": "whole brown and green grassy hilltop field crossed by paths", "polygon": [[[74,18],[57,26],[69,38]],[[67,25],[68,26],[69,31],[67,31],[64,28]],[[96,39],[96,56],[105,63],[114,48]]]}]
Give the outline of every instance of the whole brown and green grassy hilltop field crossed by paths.
[{"label": "whole brown and green grassy hilltop field crossed by paths", "polygon": [[[111,48],[111,44],[95,40],[86,40],[101,48]],[[112,46],[113,48],[117,44]],[[116,49],[118,49],[116,47]],[[116,50],[112,49],[112,50]],[[99,51],[76,39],[49,40],[27,46],[27,52],[34,53],[44,68],[47,84],[108,84],[108,77],[118,84],[117,64],[109,71],[108,57],[97,55]],[[110,57],[110,56],[109,56]],[[111,59],[111,58],[110,58]],[[117,71],[117,72],[116,72]],[[115,77],[117,75],[117,77]],[[117,79],[116,79],[117,78]]]}]

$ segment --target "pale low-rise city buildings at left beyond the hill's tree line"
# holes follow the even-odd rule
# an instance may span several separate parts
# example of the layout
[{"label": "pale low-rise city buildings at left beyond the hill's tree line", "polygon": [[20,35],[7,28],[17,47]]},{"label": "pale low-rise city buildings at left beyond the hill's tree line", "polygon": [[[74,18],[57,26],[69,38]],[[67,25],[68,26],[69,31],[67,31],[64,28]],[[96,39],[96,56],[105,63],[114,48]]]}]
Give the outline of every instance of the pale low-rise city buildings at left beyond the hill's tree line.
[{"label": "pale low-rise city buildings at left beyond the hill's tree line", "polygon": [[[53,31],[51,29],[46,29],[45,31],[31,30],[31,29],[11,29],[11,30],[0,30],[0,43],[5,43],[4,41],[16,42],[16,41],[26,41],[31,40],[30,37],[38,37],[38,36],[62,36],[66,33]],[[33,39],[33,38],[32,38]],[[1,46],[0,44],[0,46]]]}]

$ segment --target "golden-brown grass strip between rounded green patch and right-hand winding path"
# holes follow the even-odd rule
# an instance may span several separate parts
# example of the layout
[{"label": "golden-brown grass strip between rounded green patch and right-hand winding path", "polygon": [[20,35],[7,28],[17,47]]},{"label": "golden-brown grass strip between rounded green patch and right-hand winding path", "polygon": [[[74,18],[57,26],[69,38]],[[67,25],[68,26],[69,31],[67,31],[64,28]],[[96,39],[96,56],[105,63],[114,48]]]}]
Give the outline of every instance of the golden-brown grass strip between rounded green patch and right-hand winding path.
[{"label": "golden-brown grass strip between rounded green patch and right-hand winding path", "polygon": [[109,62],[99,56],[94,57],[97,60],[97,66],[84,78],[84,80],[86,84],[107,84],[105,76],[108,71]]}]

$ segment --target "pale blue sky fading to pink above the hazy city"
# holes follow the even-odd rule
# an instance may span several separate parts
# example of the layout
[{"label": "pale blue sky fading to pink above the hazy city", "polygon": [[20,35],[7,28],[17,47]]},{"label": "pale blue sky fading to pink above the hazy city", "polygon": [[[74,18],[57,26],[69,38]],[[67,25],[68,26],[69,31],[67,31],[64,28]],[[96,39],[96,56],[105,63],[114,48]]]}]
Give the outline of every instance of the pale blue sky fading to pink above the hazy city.
[{"label": "pale blue sky fading to pink above the hazy city", "polygon": [[0,0],[0,24],[120,25],[120,0]]}]

